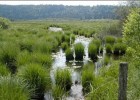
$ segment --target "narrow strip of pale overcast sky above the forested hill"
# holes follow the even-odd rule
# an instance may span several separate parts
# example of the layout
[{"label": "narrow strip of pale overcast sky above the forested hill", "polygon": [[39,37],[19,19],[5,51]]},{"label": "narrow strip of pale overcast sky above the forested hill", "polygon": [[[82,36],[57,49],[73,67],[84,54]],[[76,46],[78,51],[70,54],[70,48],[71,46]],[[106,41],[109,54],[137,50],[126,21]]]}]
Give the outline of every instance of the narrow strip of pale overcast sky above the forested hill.
[{"label": "narrow strip of pale overcast sky above the forested hill", "polygon": [[40,5],[40,4],[52,4],[52,5],[119,5],[124,1],[0,1],[0,4],[6,5]]}]

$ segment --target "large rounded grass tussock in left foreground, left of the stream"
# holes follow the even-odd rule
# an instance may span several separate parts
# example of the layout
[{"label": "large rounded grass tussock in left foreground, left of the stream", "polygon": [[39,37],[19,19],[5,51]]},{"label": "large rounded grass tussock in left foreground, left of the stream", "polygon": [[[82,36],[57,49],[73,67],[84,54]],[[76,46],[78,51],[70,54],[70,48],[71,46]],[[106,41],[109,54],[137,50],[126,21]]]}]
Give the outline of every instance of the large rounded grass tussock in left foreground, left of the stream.
[{"label": "large rounded grass tussock in left foreground, left of the stream", "polygon": [[29,84],[29,89],[35,89],[32,98],[43,98],[44,93],[51,88],[50,74],[39,64],[31,63],[24,66],[19,69],[17,75]]}]

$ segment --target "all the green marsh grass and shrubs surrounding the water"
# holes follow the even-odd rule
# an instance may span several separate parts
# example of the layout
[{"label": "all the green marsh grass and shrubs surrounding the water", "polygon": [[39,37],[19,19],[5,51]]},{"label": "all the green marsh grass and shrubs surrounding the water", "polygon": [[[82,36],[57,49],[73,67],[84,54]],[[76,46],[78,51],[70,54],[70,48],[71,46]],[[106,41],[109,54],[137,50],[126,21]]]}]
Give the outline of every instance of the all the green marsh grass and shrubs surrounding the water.
[{"label": "all the green marsh grass and shrubs surrounding the water", "polygon": [[[88,47],[92,61],[89,60],[80,69],[85,99],[116,100],[119,63],[128,62],[127,98],[139,100],[139,11],[131,11],[124,23],[123,36],[117,20],[31,20],[7,24],[0,19],[6,23],[4,26],[0,22],[0,100],[43,99],[44,93],[50,91],[55,100],[65,98],[72,85],[71,67],[68,65],[68,69],[57,69],[55,84],[52,85],[52,53],[62,48],[67,61],[74,59],[74,51],[76,60],[83,60],[84,46],[81,43],[75,44],[74,50],[71,49],[78,36],[93,39]],[[50,26],[60,27],[63,31],[50,31]],[[102,56],[103,45],[107,54],[104,59],[97,59],[99,50],[99,57]],[[114,59],[117,56],[118,59]],[[104,65],[94,67],[93,61],[101,65],[104,62]]]}]

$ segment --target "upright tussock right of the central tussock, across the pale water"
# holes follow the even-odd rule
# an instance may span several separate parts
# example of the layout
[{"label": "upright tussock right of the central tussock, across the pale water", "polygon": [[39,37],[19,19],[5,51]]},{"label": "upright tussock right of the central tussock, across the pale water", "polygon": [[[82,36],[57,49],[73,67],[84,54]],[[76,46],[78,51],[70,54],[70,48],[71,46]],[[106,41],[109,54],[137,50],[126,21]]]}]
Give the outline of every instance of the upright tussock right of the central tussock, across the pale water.
[{"label": "upright tussock right of the central tussock, across the pale water", "polygon": [[90,43],[88,46],[88,55],[92,60],[97,60],[97,46],[94,43]]}]

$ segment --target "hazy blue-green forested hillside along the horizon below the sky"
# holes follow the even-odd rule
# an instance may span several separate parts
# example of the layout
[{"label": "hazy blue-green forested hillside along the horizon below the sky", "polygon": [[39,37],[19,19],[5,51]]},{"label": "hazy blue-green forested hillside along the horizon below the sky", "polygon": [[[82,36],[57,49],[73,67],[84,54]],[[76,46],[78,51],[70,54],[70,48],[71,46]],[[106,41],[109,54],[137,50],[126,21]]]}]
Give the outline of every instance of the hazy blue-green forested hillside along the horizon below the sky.
[{"label": "hazy blue-green forested hillside along the horizon below the sky", "polygon": [[118,19],[118,6],[0,5],[0,16],[11,20],[31,19]]}]

